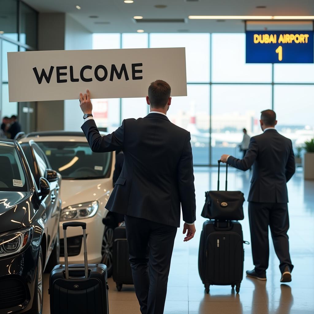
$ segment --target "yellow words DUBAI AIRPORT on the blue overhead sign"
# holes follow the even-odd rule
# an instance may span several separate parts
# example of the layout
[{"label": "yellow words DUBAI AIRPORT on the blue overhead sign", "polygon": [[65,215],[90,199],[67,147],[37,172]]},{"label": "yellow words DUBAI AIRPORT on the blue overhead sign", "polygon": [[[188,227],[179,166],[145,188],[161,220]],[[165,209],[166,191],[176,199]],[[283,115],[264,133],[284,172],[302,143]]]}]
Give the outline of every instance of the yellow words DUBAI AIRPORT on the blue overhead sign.
[{"label": "yellow words DUBAI AIRPORT on the blue overhead sign", "polygon": [[[278,44],[307,44],[309,34],[280,34]],[[254,34],[254,44],[277,44],[277,34]]]}]

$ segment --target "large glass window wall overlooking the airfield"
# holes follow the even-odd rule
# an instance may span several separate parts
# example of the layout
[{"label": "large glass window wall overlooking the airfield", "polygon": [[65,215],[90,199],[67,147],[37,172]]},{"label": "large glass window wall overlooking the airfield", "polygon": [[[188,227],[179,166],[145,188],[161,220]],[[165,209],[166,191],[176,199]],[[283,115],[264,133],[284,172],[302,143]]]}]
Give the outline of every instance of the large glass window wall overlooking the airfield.
[{"label": "large glass window wall overlooking the airfield", "polygon": [[[245,34],[94,35],[95,49],[147,47],[186,48],[188,96],[173,97],[167,115],[191,133],[194,165],[216,165],[223,153],[241,157],[242,129],[261,133],[264,109],[276,111],[277,129],[295,148],[314,137],[313,64],[246,64]],[[107,101],[110,132],[148,112],[145,99]]]}]

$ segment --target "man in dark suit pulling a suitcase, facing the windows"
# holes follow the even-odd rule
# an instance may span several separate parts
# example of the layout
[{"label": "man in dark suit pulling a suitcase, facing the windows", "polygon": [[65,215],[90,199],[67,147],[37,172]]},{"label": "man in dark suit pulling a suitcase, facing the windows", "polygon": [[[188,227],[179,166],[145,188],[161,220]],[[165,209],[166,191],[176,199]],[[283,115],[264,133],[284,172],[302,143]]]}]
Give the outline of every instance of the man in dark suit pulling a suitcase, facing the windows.
[{"label": "man in dark suit pulling a suitcase, facing the windows", "polygon": [[289,253],[288,191],[286,183],[295,173],[291,140],[275,130],[276,113],[264,110],[261,114],[263,134],[250,140],[243,159],[222,155],[221,161],[246,171],[253,165],[249,201],[252,255],[255,268],[247,276],[266,280],[269,243],[268,226],[280,261],[281,282],[291,281],[293,265]]}]

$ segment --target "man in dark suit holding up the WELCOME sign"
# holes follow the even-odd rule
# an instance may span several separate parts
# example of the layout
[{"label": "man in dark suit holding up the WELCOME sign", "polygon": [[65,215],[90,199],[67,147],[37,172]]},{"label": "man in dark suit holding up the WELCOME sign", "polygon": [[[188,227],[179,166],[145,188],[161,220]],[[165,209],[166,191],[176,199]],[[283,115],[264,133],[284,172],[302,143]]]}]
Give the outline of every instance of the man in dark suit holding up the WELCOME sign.
[{"label": "man in dark suit holding up the WELCOME sign", "polygon": [[135,292],[142,314],[164,312],[168,274],[180,203],[184,241],[195,233],[195,189],[190,133],[166,116],[171,88],[153,82],[146,97],[150,113],[144,118],[123,120],[115,132],[101,137],[92,118],[89,91],[80,94],[84,113],[82,130],[93,152],[121,149],[122,172],[106,204],[125,215],[127,241]]}]

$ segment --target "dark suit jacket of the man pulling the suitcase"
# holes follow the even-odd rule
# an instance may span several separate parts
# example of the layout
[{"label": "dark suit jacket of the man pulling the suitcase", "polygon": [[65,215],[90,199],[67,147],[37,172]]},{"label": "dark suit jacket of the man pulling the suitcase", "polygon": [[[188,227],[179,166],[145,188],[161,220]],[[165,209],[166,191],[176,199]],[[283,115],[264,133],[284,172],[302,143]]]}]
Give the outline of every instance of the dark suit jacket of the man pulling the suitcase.
[{"label": "dark suit jacket of the man pulling the suitcase", "polygon": [[249,202],[288,203],[286,183],[295,173],[292,142],[275,129],[251,138],[243,159],[232,156],[228,164],[240,170],[253,165]]}]

